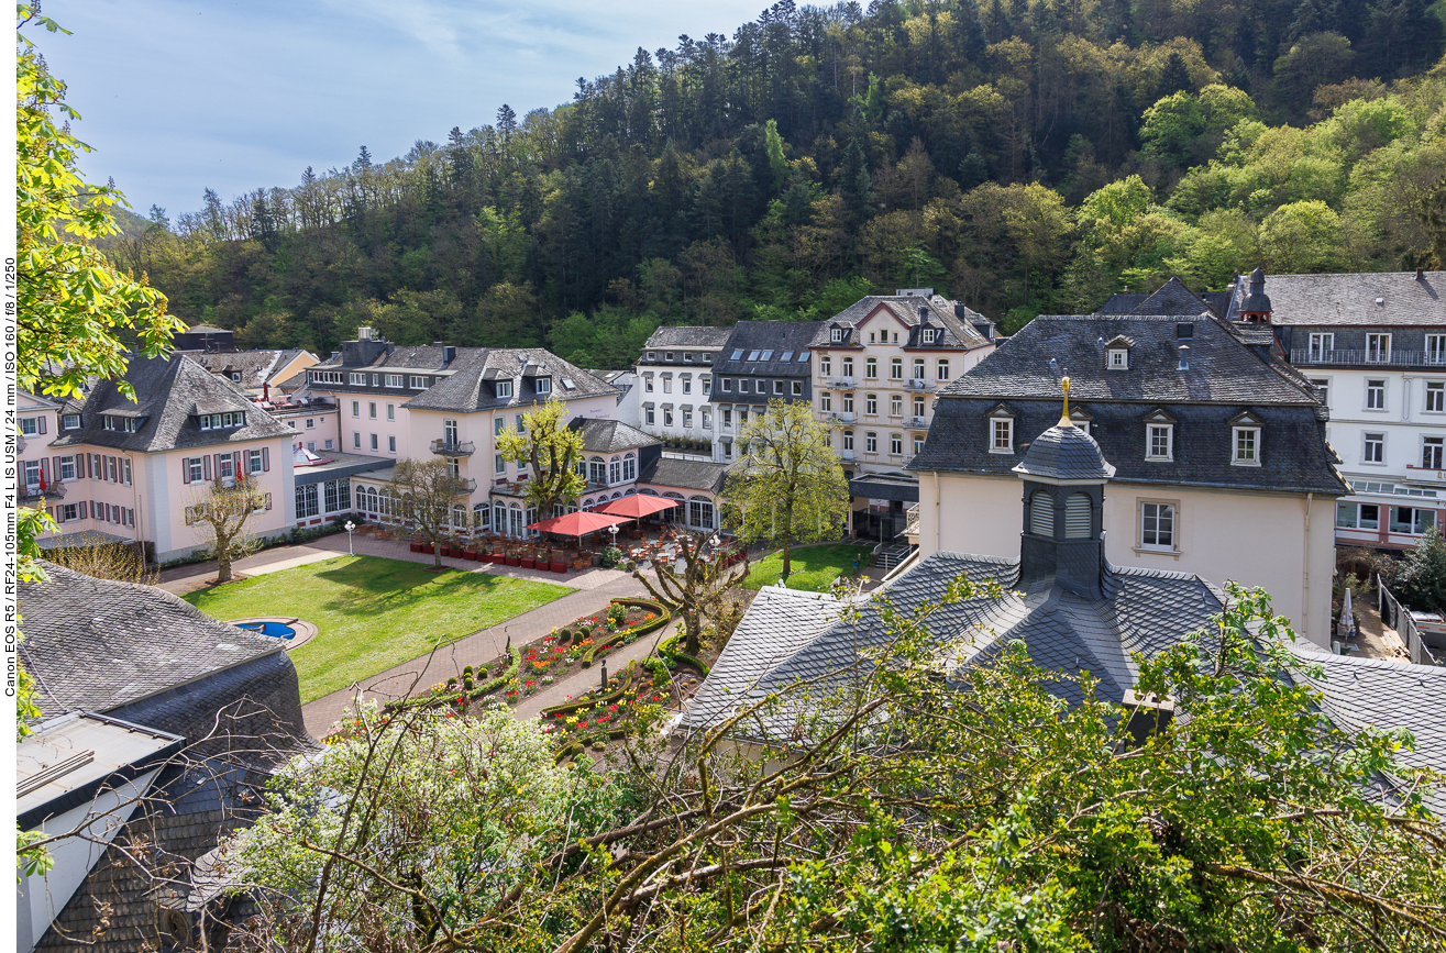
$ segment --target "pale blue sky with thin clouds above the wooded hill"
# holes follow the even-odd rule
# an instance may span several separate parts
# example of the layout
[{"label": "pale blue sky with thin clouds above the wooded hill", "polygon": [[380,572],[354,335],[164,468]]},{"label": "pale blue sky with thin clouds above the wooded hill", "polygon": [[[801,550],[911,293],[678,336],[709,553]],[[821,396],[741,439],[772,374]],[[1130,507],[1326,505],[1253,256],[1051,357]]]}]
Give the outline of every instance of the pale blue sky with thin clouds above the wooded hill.
[{"label": "pale blue sky with thin clouds above the wooded hill", "polygon": [[48,0],[69,36],[26,30],[81,114],[90,181],[172,220],[308,165],[521,119],[680,33],[732,35],[766,0]]}]

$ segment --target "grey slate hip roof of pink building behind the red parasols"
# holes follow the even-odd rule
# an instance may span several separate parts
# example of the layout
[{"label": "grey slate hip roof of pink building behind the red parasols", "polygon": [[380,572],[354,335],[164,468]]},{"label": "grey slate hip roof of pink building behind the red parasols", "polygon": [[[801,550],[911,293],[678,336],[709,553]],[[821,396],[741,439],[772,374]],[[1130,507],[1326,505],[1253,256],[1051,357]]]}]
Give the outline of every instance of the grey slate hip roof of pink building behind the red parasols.
[{"label": "grey slate hip roof of pink building behind the red parasols", "polygon": [[[441,349],[434,350],[438,351],[440,359]],[[401,354],[401,349],[396,353]],[[526,359],[526,362],[523,363],[521,359]],[[573,401],[599,395],[615,396],[617,393],[617,388],[613,385],[541,347],[458,347],[457,357],[451,362],[451,370],[450,376],[434,383],[402,406],[411,411],[455,411],[458,414],[470,414],[492,408],[525,406],[538,401],[547,401],[549,396],[561,401]],[[551,393],[539,395],[532,389],[529,382],[538,376],[551,376]],[[576,386],[571,390],[567,389],[562,383],[564,379],[571,380]],[[493,396],[493,383],[497,380],[513,382],[510,398]]]}]

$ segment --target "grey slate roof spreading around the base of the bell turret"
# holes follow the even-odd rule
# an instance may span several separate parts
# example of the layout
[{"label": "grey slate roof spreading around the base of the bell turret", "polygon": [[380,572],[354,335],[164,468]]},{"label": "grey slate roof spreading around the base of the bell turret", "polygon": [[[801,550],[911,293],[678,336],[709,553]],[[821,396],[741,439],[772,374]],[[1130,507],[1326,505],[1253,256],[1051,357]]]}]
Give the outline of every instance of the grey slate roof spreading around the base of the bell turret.
[{"label": "grey slate roof spreading around the base of the bell turret", "polygon": [[[959,577],[976,584],[998,581],[1006,591],[999,599],[941,603]],[[1138,681],[1132,652],[1150,657],[1180,642],[1205,628],[1225,599],[1199,576],[1142,568],[1106,567],[1103,597],[1048,584],[1018,591],[1019,584],[1018,560],[934,552],[876,591],[905,617],[924,604],[938,604],[930,631],[946,667],[989,664],[1018,639],[1041,668],[1071,675],[1089,671],[1100,680],[1099,697],[1113,701]],[[856,623],[840,617],[843,607],[824,596],[761,589],[694,696],[684,726],[707,729],[740,704],[798,680],[817,680],[820,687],[843,684],[860,664],[856,648],[879,648],[895,638],[873,594],[862,597]],[[1045,685],[1070,703],[1082,700],[1074,683]],[[743,733],[787,736],[792,727],[788,717],[785,711],[743,726]]]}]

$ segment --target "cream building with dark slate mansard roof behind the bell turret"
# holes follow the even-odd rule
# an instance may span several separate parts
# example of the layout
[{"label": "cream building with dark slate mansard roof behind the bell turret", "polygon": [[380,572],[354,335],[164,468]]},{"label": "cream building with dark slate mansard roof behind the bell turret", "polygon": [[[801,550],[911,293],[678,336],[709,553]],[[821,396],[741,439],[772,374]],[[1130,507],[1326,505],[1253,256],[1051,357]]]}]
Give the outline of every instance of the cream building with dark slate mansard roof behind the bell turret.
[{"label": "cream building with dark slate mansard roof behind the bell turret", "polygon": [[1348,492],[1314,390],[1223,321],[1040,317],[940,392],[920,476],[918,545],[1012,557],[1012,474],[1034,435],[1071,419],[1116,467],[1105,551],[1121,567],[1259,586],[1316,645],[1330,642],[1335,500]]}]

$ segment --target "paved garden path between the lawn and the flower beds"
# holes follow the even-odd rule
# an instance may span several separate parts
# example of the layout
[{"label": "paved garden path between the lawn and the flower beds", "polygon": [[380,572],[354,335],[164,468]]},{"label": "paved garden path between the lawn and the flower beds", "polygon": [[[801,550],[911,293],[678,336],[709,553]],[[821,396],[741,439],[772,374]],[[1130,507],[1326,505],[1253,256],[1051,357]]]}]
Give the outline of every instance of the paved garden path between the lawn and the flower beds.
[{"label": "paved garden path between the lawn and the flower beds", "polygon": [[[346,547],[346,539],[341,541],[341,545]],[[402,544],[402,550],[403,551],[406,550],[406,544]],[[362,552],[360,547],[357,547],[357,552]],[[369,552],[367,555],[390,555],[390,554]],[[428,561],[431,560],[431,557],[425,558]],[[454,563],[454,561],[455,560],[444,560],[444,563]],[[470,563],[464,565],[476,567],[477,564]],[[341,691],[333,691],[328,696],[324,696],[321,698],[317,698],[315,701],[302,706],[301,713],[302,717],[305,719],[307,730],[311,732],[311,735],[318,739],[330,733],[331,726],[341,717],[341,711],[353,703],[356,693],[359,690],[366,693],[369,697],[379,698],[382,701],[388,701],[390,698],[399,698],[412,694],[415,691],[422,691],[440,681],[447,681],[450,675],[457,675],[460,678],[464,665],[484,665],[492,662],[493,659],[502,655],[509,639],[512,641],[513,645],[526,645],[528,642],[542,638],[552,629],[573,622],[578,616],[586,616],[594,612],[600,612],[607,606],[607,602],[610,599],[615,599],[617,596],[638,596],[639,593],[645,594],[642,583],[639,583],[638,580],[632,578],[625,573],[617,573],[613,570],[591,570],[590,573],[576,573],[576,574],[568,573],[564,577],[555,573],[532,573],[531,570],[522,570],[522,568],[509,568],[496,565],[492,568],[502,568],[505,570],[505,573],[502,574],[506,576],[526,574],[522,577],[538,578],[539,581],[558,583],[564,586],[571,586],[574,584],[574,578],[589,576],[590,573],[604,574],[604,578],[602,584],[596,584],[590,589],[578,589],[577,591],[562,596],[561,599],[554,599],[545,606],[538,606],[531,612],[523,612],[522,615],[513,616],[512,619],[508,619],[505,622],[499,622],[492,628],[482,629],[479,632],[473,632],[469,636],[460,638],[455,642],[451,642],[437,649],[431,655],[415,658],[409,662],[403,662],[395,668],[373,675],[367,678],[366,683],[362,685],[353,685]],[[655,635],[656,633],[652,633],[645,639],[638,639],[632,645],[625,646],[622,652],[617,652],[613,657],[613,659],[622,658],[623,661],[617,662],[610,659],[609,670],[617,671],[616,668],[617,665],[626,664],[626,659],[629,658],[626,652],[629,649],[639,649],[645,652],[645,649],[652,646],[652,638]],[[573,685],[571,694],[581,694],[583,691],[586,691],[587,687],[590,687],[589,683],[599,677],[599,670],[594,667],[584,670],[581,674],[586,675],[586,678]],[[536,701],[544,696],[548,696],[548,691],[560,688],[564,684],[571,684],[573,681],[574,677],[570,677],[562,683],[548,685],[548,690],[538,693],[536,696],[528,698],[528,701],[529,703]],[[562,700],[561,696],[558,696],[558,701],[561,700]],[[544,706],[539,706],[538,710],[541,710],[541,707],[545,707],[545,704],[557,704],[557,701],[547,701],[544,703]],[[531,716],[519,716],[519,717],[531,717]]]}]

